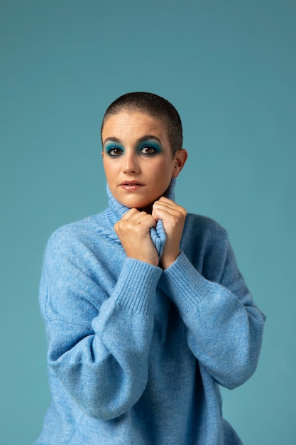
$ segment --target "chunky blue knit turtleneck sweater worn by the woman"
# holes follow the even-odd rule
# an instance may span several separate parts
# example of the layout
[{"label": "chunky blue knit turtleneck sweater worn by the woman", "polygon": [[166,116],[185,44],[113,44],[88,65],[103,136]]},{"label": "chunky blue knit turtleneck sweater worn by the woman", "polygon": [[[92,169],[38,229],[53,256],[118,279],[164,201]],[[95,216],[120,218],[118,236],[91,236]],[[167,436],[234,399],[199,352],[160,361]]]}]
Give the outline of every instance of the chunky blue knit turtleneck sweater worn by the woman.
[{"label": "chunky blue knit turtleneck sweater worn by the woman", "polygon": [[[35,445],[237,445],[219,385],[256,369],[264,316],[225,230],[187,215],[165,270],[126,257],[109,193],[50,238],[40,282],[53,402]],[[173,184],[168,193],[173,198]],[[162,224],[151,232],[161,254]]]}]

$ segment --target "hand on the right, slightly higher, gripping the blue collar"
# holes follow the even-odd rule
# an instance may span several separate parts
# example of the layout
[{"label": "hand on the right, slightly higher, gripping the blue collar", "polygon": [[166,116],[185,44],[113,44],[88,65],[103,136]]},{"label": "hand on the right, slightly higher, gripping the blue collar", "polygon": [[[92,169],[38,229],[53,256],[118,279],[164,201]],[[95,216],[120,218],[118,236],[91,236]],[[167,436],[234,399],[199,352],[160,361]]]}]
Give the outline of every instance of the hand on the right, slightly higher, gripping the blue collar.
[{"label": "hand on the right, slightly higher, gripping the blue collar", "polygon": [[180,241],[184,229],[187,212],[185,208],[162,196],[155,201],[152,216],[156,221],[162,220],[167,240],[160,258],[160,266],[168,269],[180,254]]}]

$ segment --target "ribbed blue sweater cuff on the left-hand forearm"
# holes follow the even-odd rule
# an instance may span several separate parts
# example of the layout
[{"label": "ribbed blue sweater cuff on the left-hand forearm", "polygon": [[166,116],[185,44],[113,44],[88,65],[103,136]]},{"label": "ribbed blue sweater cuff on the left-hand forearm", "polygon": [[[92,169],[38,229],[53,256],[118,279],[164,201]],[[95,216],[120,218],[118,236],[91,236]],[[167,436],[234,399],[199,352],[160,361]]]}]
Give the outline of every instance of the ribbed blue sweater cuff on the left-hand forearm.
[{"label": "ribbed blue sweater cuff on the left-hand forearm", "polygon": [[162,269],[138,259],[126,258],[114,289],[116,303],[133,312],[153,311],[155,292]]}]

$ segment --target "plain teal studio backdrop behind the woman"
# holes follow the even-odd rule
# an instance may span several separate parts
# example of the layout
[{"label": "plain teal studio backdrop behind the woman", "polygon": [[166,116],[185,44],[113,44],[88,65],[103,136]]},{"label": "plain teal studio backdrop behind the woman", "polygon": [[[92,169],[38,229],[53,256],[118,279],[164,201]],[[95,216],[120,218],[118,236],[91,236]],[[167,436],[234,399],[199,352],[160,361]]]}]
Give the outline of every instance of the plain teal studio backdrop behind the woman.
[{"label": "plain teal studio backdrop behind the woman", "polygon": [[0,1],[1,445],[40,433],[45,242],[105,208],[100,122],[134,90],[179,110],[176,200],[227,228],[268,316],[224,416],[245,445],[296,443],[295,18],[295,0]]}]

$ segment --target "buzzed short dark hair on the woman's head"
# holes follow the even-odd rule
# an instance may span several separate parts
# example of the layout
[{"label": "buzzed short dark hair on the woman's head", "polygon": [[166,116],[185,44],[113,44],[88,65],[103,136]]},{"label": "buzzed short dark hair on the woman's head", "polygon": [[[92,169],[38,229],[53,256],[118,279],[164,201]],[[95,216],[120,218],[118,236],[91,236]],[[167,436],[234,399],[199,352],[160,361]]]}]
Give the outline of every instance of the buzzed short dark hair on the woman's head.
[{"label": "buzzed short dark hair on the woman's head", "polygon": [[162,119],[168,129],[172,156],[175,156],[177,150],[182,149],[182,122],[177,109],[168,100],[152,92],[128,92],[114,100],[104,114],[101,136],[106,120],[110,116],[124,111],[143,112],[144,114]]}]

